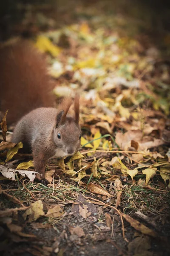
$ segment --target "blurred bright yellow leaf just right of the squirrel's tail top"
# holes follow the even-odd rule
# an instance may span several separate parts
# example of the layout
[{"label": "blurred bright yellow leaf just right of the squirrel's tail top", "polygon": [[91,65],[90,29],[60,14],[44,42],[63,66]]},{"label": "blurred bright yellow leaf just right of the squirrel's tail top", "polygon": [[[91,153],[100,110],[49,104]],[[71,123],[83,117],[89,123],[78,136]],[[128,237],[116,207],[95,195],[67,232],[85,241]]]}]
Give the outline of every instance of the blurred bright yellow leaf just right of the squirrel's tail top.
[{"label": "blurred bright yellow leaf just right of the squirrel's tail top", "polygon": [[39,35],[35,46],[42,52],[50,52],[53,57],[57,57],[61,49],[55,46],[47,37]]}]

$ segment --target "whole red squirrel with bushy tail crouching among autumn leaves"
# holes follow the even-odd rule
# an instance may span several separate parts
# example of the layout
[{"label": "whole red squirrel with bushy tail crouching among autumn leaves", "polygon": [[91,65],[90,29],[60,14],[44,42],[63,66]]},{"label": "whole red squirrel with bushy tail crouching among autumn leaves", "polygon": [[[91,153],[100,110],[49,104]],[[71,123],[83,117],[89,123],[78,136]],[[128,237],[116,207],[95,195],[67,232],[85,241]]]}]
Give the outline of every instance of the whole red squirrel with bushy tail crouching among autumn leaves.
[{"label": "whole red squirrel with bushy tail crouching among autumn leaves", "polygon": [[21,141],[25,149],[31,149],[36,179],[46,184],[48,159],[72,155],[79,148],[79,95],[74,98],[74,116],[68,115],[71,97],[58,108],[51,107],[54,100],[45,62],[27,42],[3,47],[0,58],[0,110],[9,109],[7,122],[18,121],[11,142]]}]

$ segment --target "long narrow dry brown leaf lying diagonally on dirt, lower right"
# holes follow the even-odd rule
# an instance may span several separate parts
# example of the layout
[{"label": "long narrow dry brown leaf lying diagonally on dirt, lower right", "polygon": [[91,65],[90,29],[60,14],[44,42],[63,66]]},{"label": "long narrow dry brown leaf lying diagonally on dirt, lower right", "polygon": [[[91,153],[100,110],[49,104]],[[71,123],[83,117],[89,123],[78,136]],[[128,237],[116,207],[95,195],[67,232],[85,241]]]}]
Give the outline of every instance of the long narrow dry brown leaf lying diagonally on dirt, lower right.
[{"label": "long narrow dry brown leaf lying diagonally on dirt, lower right", "polygon": [[153,237],[157,237],[157,233],[153,230],[151,230],[150,228],[144,226],[143,224],[141,224],[139,221],[136,221],[135,219],[133,219],[132,217],[130,217],[129,215],[126,215],[125,213],[122,213],[123,218],[125,218],[125,220],[127,222],[130,223],[130,225],[132,227],[134,227],[136,230],[138,230],[139,232],[141,232],[144,235],[147,236],[153,236]]}]

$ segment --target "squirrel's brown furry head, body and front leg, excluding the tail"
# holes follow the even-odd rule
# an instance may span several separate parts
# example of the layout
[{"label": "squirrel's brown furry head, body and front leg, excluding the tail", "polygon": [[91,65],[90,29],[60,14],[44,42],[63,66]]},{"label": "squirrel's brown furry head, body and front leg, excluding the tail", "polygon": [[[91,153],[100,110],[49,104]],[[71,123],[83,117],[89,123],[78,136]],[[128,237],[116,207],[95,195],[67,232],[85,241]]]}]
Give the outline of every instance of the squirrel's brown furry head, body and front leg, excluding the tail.
[{"label": "squirrel's brown furry head, body and front leg, excluding the tail", "polygon": [[67,116],[70,105],[71,99],[65,99],[58,109],[37,108],[23,116],[14,129],[11,141],[22,141],[30,146],[39,180],[45,178],[45,165],[49,158],[71,155],[79,148],[81,129],[78,124],[78,98],[74,101],[76,120]]}]

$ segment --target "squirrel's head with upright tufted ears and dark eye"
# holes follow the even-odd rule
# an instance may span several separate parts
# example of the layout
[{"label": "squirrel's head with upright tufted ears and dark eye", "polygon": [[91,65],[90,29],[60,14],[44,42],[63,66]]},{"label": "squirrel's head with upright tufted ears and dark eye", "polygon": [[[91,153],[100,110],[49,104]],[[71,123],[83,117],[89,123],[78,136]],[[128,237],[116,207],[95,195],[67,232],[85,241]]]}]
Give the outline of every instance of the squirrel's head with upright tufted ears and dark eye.
[{"label": "squirrel's head with upright tufted ears and dark eye", "polygon": [[57,147],[57,157],[73,155],[80,145],[79,95],[76,94],[74,98],[74,116],[67,116],[71,103],[71,98],[65,98],[57,110],[54,128],[54,143]]}]

